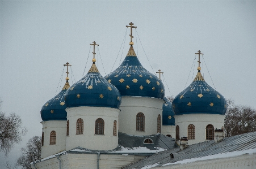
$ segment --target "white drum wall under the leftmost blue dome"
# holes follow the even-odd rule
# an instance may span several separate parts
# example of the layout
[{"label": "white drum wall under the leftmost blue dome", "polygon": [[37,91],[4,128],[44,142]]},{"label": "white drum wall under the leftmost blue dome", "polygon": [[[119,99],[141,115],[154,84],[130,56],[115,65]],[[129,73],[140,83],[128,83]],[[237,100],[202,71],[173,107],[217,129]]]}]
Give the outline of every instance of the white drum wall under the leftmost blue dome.
[{"label": "white drum wall under the leftmost blue dome", "polygon": [[[42,132],[44,132],[44,145],[41,146],[41,158],[59,153],[66,149],[66,121],[50,120],[43,121]],[[50,145],[51,132],[56,132],[56,144]]]}]

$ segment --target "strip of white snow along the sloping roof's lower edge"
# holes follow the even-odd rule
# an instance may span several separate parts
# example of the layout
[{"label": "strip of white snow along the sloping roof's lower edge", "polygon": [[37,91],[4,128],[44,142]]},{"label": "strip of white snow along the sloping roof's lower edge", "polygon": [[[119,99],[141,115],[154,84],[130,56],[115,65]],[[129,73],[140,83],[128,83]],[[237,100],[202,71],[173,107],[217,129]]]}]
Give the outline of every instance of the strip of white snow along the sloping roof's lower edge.
[{"label": "strip of white snow along the sloping roof's lower edge", "polygon": [[250,149],[250,150],[233,151],[233,152],[227,152],[227,153],[208,155],[208,156],[199,157],[199,158],[184,159],[182,161],[178,161],[178,162],[175,162],[175,163],[163,164],[163,166],[168,166],[168,165],[172,165],[172,164],[186,164],[186,163],[192,163],[192,162],[196,162],[196,161],[204,161],[204,160],[207,160],[207,159],[236,157],[236,156],[239,156],[239,155],[242,155],[242,154],[253,154],[253,153],[256,153],[256,148],[255,149]]}]

